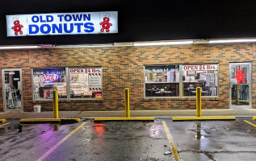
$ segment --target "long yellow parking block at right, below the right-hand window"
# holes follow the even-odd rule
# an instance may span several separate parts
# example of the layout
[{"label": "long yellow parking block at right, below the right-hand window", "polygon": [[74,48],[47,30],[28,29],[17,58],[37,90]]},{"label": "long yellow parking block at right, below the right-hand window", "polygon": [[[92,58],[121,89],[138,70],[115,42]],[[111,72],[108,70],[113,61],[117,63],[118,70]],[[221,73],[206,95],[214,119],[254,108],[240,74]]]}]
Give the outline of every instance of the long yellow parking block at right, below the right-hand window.
[{"label": "long yellow parking block at right, below the right-hand window", "polygon": [[180,117],[180,118],[172,118],[173,122],[183,122],[183,121],[213,121],[213,120],[221,120],[221,121],[234,121],[236,117],[234,116],[218,116],[218,117]]}]

